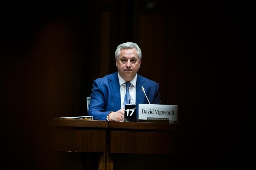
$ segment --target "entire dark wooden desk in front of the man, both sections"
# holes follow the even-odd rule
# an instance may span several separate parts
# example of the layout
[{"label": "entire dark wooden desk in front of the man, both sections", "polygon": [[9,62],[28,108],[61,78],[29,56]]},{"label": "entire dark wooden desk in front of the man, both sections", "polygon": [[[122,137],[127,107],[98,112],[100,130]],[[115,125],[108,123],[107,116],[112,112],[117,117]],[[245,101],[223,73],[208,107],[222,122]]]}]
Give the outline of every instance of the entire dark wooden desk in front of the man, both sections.
[{"label": "entire dark wooden desk in front of the man, both sections", "polygon": [[51,125],[52,150],[75,169],[169,168],[178,145],[179,124],[53,119]]}]

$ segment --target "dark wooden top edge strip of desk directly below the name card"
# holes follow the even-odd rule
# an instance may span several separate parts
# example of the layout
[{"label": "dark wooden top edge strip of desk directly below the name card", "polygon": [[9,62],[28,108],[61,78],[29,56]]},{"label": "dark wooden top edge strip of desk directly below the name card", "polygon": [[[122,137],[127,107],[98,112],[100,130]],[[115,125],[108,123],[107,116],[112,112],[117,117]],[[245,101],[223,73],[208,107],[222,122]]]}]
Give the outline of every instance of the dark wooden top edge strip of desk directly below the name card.
[{"label": "dark wooden top edge strip of desk directly below the name card", "polygon": [[109,127],[145,130],[177,130],[178,124],[151,122],[109,122]]}]

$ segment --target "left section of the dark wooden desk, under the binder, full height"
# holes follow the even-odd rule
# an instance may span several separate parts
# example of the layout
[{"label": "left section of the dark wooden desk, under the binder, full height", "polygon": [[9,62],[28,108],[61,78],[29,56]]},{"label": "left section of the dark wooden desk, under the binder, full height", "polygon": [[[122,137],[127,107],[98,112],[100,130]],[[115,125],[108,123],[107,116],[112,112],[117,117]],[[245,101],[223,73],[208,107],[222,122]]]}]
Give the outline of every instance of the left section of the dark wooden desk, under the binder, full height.
[{"label": "left section of the dark wooden desk, under the binder, full height", "polygon": [[105,169],[107,121],[53,119],[51,124],[57,168]]}]

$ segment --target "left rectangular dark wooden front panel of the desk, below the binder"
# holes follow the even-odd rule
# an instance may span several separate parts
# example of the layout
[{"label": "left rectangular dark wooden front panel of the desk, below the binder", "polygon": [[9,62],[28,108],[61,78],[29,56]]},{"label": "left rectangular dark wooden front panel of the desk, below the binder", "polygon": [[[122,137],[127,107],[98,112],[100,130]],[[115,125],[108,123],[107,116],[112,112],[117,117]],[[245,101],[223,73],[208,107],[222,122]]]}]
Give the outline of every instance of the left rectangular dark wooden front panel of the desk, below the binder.
[{"label": "left rectangular dark wooden front panel of the desk, below the binder", "polygon": [[105,152],[104,130],[52,130],[53,150],[72,152]]}]

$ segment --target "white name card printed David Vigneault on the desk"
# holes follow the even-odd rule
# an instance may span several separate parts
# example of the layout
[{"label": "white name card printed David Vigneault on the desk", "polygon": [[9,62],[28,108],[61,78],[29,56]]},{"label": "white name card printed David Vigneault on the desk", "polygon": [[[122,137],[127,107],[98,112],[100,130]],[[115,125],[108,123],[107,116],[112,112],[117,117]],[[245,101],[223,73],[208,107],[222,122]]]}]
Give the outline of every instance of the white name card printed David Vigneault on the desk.
[{"label": "white name card printed David Vigneault on the desk", "polygon": [[178,105],[139,104],[139,119],[147,120],[148,117],[178,121]]}]

